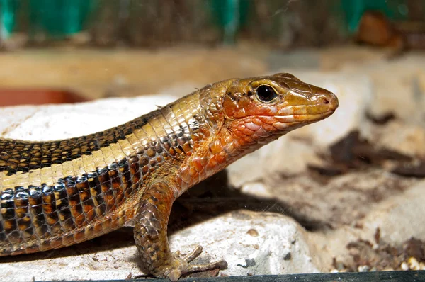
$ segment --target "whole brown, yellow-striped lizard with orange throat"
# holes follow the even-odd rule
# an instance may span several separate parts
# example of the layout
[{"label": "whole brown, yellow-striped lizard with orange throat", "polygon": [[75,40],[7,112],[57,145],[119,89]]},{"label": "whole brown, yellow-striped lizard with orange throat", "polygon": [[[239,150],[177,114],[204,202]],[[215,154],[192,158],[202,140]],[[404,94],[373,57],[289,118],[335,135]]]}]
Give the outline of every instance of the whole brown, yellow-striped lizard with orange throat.
[{"label": "whole brown, yellow-striped lizard with orange throat", "polygon": [[125,225],[145,271],[176,281],[226,262],[171,254],[171,206],[188,188],[268,142],[327,118],[331,92],[291,74],[229,79],[92,135],[0,140],[0,255],[83,242]]}]

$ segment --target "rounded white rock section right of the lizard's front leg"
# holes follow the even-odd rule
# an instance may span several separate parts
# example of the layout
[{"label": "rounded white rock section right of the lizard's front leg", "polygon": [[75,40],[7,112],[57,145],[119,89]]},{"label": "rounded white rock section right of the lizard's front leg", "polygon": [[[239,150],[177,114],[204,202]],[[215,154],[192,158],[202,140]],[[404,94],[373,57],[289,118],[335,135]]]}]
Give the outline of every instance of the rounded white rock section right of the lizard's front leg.
[{"label": "rounded white rock section right of the lizard's front leg", "polygon": [[223,273],[231,276],[314,273],[318,269],[304,232],[283,215],[241,210],[179,232],[171,237],[171,246],[179,242],[189,252],[203,244],[212,259],[226,259],[229,268]]}]

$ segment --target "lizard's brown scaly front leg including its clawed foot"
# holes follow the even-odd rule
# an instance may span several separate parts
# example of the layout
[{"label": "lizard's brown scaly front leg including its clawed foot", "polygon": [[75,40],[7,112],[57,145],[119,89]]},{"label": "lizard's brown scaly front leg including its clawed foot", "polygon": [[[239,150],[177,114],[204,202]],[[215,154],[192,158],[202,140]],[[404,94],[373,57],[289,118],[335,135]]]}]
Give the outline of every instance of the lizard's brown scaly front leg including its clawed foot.
[{"label": "lizard's brown scaly front leg including its clawed foot", "polygon": [[154,276],[168,277],[171,281],[179,280],[180,276],[186,273],[225,269],[227,262],[224,260],[204,265],[189,264],[202,252],[200,246],[183,258],[178,254],[171,254],[166,227],[175,199],[174,189],[164,182],[149,186],[141,198],[134,232],[143,268]]}]

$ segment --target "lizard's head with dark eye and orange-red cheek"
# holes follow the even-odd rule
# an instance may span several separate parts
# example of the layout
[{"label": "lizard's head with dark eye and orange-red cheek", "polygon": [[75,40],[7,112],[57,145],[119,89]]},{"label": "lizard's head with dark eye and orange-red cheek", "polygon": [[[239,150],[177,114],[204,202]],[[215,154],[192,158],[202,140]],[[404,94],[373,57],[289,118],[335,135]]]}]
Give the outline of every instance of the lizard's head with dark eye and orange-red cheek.
[{"label": "lizard's head with dark eye and orange-red cheek", "polygon": [[264,144],[329,117],[338,108],[330,91],[292,74],[232,81],[222,100],[223,126],[243,144]]}]

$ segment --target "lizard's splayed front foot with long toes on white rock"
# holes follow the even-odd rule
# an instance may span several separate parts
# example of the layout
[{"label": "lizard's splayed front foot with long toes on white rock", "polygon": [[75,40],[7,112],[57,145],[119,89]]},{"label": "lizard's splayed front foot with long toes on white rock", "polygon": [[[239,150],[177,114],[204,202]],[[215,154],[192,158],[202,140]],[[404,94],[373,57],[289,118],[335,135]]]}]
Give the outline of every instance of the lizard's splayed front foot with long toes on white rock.
[{"label": "lizard's splayed front foot with long toes on white rock", "polygon": [[200,245],[196,246],[193,251],[184,256],[183,258],[179,257],[179,252],[174,254],[174,261],[169,266],[169,269],[165,271],[165,276],[169,278],[171,281],[177,281],[182,275],[200,272],[200,271],[208,271],[213,269],[227,269],[227,262],[224,259],[220,259],[219,261],[212,261],[209,264],[189,264],[193,259],[196,259],[200,253],[202,252],[202,247]]}]

